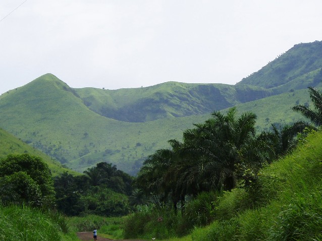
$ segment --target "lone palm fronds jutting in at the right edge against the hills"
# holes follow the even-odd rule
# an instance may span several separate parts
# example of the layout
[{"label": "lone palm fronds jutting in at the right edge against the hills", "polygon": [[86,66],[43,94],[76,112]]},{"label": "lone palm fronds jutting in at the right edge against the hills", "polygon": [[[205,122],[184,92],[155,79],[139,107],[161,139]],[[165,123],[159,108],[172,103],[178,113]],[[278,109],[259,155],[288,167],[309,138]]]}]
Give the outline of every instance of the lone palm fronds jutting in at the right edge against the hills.
[{"label": "lone palm fronds jutting in at the right edge against the hills", "polygon": [[312,123],[319,127],[322,125],[322,92],[313,87],[308,87],[308,89],[315,110],[301,104],[295,105],[292,109],[302,113],[305,117],[309,118]]}]

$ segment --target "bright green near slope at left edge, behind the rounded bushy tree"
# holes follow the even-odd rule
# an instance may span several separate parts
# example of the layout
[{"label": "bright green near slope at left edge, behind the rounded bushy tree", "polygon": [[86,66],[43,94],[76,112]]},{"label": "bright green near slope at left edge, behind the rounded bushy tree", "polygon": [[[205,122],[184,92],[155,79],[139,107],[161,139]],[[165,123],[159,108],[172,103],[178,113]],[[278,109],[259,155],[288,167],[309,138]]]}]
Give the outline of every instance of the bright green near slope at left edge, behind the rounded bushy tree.
[{"label": "bright green near slope at left edge, behind the rounded bushy tree", "polygon": [[63,167],[60,162],[53,160],[48,155],[24,143],[23,141],[19,140],[18,138],[6,132],[5,130],[0,129],[0,158],[4,158],[9,154],[23,153],[28,153],[33,156],[41,157],[42,160],[44,160],[48,164],[48,167],[51,170],[52,175],[57,175],[59,173],[63,173],[64,171],[77,174],[74,171]]}]

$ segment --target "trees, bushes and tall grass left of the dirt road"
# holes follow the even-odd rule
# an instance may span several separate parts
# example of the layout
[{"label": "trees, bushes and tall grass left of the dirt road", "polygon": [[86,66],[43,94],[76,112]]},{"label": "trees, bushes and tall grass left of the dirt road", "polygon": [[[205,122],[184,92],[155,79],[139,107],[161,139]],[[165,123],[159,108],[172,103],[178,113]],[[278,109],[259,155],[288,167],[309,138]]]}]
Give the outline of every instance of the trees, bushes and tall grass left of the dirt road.
[{"label": "trees, bushes and tall grass left of the dirt road", "polygon": [[[82,223],[81,230],[75,229],[63,214],[127,215],[132,177],[105,162],[84,175],[64,172],[52,177],[41,158],[10,154],[0,160],[0,190],[1,240],[77,240],[74,231],[94,225]],[[97,221],[93,224],[104,228]]]}]

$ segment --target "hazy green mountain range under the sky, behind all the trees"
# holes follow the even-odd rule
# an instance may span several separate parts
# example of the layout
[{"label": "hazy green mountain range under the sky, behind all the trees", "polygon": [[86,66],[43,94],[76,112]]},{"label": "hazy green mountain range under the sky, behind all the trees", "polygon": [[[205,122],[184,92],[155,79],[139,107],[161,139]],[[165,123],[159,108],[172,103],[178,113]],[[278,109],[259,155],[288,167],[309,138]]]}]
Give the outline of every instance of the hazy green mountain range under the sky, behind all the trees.
[{"label": "hazy green mountain range under the sky, behind all the trees", "polygon": [[[181,140],[184,130],[214,110],[237,105],[252,111],[259,130],[297,121],[301,116],[291,108],[310,103],[308,86],[320,88],[321,43],[295,45],[234,86],[167,82],[73,89],[46,74],[0,96],[0,127],[74,170],[106,161],[135,174],[148,155],[169,148],[170,139]],[[282,68],[293,66],[290,59],[296,67]]]}]

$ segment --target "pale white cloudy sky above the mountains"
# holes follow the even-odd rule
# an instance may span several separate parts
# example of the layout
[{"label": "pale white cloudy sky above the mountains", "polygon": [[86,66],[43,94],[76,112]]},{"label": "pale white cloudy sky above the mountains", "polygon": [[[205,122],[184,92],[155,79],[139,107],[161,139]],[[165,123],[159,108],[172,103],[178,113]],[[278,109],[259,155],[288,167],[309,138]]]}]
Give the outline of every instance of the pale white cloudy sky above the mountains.
[{"label": "pale white cloudy sky above the mountains", "polygon": [[320,0],[1,0],[0,93],[45,73],[75,88],[236,84],[294,44],[322,40],[321,9]]}]

